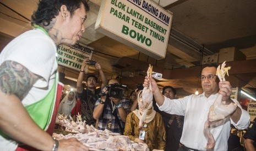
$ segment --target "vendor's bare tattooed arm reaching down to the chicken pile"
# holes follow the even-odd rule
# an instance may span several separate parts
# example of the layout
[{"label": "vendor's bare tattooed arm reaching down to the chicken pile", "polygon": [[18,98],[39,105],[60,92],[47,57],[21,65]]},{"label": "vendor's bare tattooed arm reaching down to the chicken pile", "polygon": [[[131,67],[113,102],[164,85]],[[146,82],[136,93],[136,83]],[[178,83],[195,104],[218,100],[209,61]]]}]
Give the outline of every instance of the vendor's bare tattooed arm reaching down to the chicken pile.
[{"label": "vendor's bare tattooed arm reaching down to the chicken pile", "polygon": [[[55,143],[52,137],[34,123],[21,104],[39,78],[14,61],[5,61],[0,65],[0,129],[18,142],[40,150],[52,150]],[[59,141],[58,150],[80,144],[76,139]]]}]

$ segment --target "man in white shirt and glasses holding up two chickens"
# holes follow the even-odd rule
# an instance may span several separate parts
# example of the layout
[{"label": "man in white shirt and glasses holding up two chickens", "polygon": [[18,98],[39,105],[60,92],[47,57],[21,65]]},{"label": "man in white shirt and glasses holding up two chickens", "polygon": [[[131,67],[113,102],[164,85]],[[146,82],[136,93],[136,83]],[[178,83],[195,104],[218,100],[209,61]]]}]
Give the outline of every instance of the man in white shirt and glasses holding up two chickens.
[{"label": "man in white shirt and glasses holding up two chickens", "polygon": [[[222,101],[227,104],[238,103],[238,106],[224,125],[211,129],[215,139],[214,150],[227,150],[227,140],[230,135],[231,124],[237,129],[246,129],[249,125],[249,114],[237,100],[231,99],[231,85],[228,81],[219,82],[216,74],[216,66],[208,65],[201,72],[201,86],[204,90],[200,95],[189,95],[184,98],[173,99],[161,94],[155,80],[145,77],[143,86],[152,85],[152,92],[161,111],[169,114],[183,115],[184,126],[181,143],[184,145],[178,150],[206,150],[207,138],[204,134],[204,123],[208,118],[209,108],[217,96],[221,94]],[[218,86],[219,84],[219,86]]]}]

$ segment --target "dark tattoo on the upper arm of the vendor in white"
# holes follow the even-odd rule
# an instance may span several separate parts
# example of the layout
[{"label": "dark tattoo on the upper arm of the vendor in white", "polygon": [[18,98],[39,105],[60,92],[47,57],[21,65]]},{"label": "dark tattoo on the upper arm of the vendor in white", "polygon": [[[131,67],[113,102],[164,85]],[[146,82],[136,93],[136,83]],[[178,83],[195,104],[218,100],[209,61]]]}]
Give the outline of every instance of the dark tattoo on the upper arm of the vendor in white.
[{"label": "dark tattoo on the upper arm of the vendor in white", "polygon": [[4,61],[0,65],[0,91],[14,94],[23,100],[39,76],[15,61]]}]

